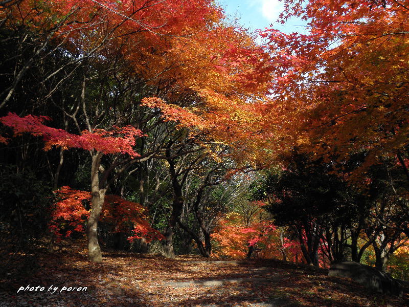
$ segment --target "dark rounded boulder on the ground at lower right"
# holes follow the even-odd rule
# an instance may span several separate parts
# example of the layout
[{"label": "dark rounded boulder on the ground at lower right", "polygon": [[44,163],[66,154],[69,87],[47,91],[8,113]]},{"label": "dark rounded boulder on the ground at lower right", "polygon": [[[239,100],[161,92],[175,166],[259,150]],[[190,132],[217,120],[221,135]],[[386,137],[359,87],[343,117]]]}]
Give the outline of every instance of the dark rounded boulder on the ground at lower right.
[{"label": "dark rounded boulder on the ground at lower right", "polygon": [[328,276],[351,278],[370,291],[402,296],[400,283],[391,275],[354,261],[337,262],[329,268]]}]

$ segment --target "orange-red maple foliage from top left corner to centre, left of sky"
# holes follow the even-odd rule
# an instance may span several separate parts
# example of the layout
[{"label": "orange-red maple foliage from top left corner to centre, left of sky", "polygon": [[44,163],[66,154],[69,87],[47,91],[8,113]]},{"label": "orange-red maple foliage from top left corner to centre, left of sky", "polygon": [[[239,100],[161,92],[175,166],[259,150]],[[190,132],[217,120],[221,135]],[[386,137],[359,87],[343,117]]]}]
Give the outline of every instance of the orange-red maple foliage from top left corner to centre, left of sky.
[{"label": "orange-red maple foliage from top left corner to centre, left of sky", "polygon": [[[237,149],[236,160],[265,158],[269,55],[246,31],[226,25],[212,1],[24,0],[3,13],[6,27],[25,24],[73,55],[104,62],[121,54],[135,76],[152,85],[160,78],[165,118],[206,128],[208,139]],[[187,94],[189,105],[180,99]]]}]

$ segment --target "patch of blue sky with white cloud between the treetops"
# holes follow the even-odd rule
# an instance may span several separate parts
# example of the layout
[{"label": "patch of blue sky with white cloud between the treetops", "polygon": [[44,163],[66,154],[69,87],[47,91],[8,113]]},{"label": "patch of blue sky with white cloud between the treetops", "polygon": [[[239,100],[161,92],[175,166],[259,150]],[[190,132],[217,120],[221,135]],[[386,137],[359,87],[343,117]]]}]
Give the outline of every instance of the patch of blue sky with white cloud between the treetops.
[{"label": "patch of blue sky with white cloud between the treetops", "polygon": [[[276,20],[282,11],[282,3],[278,0],[216,0],[225,13],[234,18],[239,18],[239,23],[251,31],[264,29],[274,24],[280,31],[303,32],[305,23],[301,20],[289,20],[286,25],[277,23]],[[301,26],[301,27],[300,27]]]}]

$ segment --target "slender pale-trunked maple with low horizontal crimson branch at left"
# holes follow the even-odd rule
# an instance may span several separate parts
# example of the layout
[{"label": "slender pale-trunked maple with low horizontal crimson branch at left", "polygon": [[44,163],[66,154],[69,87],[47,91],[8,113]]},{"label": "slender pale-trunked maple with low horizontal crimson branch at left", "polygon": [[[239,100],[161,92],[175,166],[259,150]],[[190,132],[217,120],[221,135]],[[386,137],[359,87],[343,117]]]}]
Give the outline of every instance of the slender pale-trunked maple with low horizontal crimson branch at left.
[{"label": "slender pale-trunked maple with low horizontal crimson branch at left", "polygon": [[44,125],[42,122],[46,119],[48,118],[30,115],[20,118],[10,113],[2,117],[1,122],[5,126],[11,127],[15,136],[22,133],[30,133],[34,136],[43,137],[45,150],[50,149],[52,146],[57,146],[64,149],[74,147],[90,151],[92,156],[90,179],[93,210],[89,214],[87,223],[88,253],[90,260],[100,262],[102,261],[102,255],[98,244],[98,221],[103,208],[106,190],[109,187],[110,181],[115,179],[115,177],[108,178],[113,169],[111,167],[102,171],[100,180],[101,159],[103,155],[115,153],[123,153],[132,158],[139,157],[139,154],[133,150],[132,146],[135,144],[135,137],[142,137],[143,134],[140,130],[127,126],[123,128],[112,127],[111,131],[97,129],[93,133],[85,130],[82,135],[74,135],[62,129]]}]

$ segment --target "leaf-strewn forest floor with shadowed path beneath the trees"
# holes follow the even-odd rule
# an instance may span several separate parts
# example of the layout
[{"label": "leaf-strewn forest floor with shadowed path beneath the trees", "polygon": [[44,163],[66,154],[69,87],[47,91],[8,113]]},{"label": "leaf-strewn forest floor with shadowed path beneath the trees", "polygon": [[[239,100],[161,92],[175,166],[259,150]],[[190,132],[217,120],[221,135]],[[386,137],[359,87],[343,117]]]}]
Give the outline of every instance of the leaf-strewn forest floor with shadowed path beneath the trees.
[{"label": "leaf-strewn forest floor with shadowed path beneath the trees", "polygon": [[1,307],[409,306],[407,288],[403,298],[367,293],[353,281],[326,276],[326,270],[277,260],[166,259],[109,250],[102,264],[92,264],[82,247],[36,258],[32,271],[10,267],[0,276]]}]

